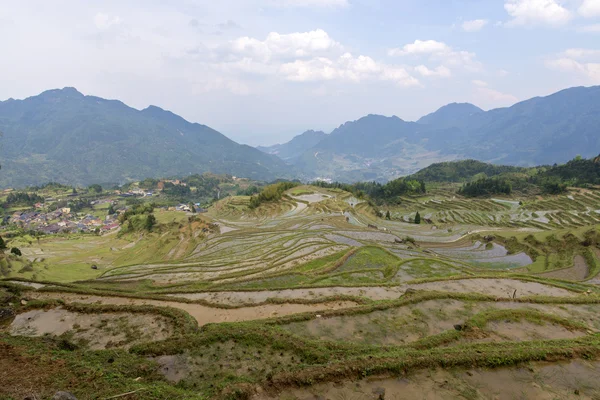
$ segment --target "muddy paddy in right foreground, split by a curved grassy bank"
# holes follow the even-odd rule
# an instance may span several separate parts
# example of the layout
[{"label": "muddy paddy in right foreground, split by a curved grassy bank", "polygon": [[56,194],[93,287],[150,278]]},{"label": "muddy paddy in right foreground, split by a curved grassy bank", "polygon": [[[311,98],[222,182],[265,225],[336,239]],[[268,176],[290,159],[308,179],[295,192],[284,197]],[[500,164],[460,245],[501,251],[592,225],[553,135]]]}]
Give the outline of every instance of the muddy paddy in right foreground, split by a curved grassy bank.
[{"label": "muddy paddy in right foreground, split by a curved grassy bank", "polygon": [[499,320],[488,323],[484,329],[487,333],[480,338],[464,338],[461,343],[570,339],[585,336],[588,333],[587,330],[596,332],[600,324],[598,318],[600,305],[596,304],[557,306],[440,299],[373,311],[368,314],[314,318],[283,325],[282,328],[301,336],[316,339],[377,345],[401,345],[453,330],[455,324],[463,324],[480,312],[509,309],[537,310],[542,313],[569,318],[584,324],[587,329],[568,330],[563,326],[551,323],[538,325],[525,320],[517,322]]}]

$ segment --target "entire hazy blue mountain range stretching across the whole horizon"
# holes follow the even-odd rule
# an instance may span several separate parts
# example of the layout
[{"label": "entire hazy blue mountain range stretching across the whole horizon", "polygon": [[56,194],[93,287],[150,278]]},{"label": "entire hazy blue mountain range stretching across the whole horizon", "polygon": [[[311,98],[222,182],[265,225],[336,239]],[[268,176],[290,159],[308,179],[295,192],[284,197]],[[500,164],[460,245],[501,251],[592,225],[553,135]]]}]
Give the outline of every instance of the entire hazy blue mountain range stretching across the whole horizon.
[{"label": "entire hazy blue mountain range stretching across the whole horizon", "polygon": [[434,162],[532,166],[600,152],[600,86],[484,111],[453,103],[416,122],[367,115],[329,134],[253,148],[150,106],[55,89],[0,102],[0,187],[127,182],[206,171],[257,180],[386,181]]}]

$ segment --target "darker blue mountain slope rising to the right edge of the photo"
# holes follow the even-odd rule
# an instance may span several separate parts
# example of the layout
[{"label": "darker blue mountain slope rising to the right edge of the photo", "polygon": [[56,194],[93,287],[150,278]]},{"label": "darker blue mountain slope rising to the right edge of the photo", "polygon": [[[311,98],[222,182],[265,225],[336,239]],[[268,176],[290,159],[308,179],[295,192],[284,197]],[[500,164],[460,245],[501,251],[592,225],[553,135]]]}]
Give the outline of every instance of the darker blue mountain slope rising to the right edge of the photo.
[{"label": "darker blue mountain slope rising to the right edge of the photo", "polygon": [[451,152],[513,165],[566,162],[600,149],[600,86],[575,87],[478,113]]}]

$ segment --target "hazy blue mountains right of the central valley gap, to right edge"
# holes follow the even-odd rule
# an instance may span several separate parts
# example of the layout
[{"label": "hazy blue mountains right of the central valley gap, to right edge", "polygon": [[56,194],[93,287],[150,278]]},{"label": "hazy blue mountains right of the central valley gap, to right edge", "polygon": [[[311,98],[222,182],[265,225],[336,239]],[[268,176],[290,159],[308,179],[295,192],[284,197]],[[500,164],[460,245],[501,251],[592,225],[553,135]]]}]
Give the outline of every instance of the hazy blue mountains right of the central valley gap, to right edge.
[{"label": "hazy blue mountains right of the central valley gap, to right edge", "polygon": [[600,86],[566,89],[507,108],[449,104],[417,122],[368,115],[294,159],[307,177],[386,181],[442,161],[515,166],[589,158],[600,149]]}]

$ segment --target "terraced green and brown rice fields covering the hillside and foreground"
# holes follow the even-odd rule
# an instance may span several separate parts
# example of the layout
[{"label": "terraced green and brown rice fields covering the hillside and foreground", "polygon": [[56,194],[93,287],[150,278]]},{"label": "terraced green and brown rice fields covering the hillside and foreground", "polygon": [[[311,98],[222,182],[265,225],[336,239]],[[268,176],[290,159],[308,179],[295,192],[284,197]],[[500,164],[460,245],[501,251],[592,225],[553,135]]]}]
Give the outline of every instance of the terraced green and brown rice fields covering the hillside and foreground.
[{"label": "terraced green and brown rice fields covering the hillside and foreground", "polygon": [[[599,395],[594,192],[522,201],[439,191],[406,199],[392,220],[342,191],[288,195],[258,210],[226,199],[208,213],[218,230],[173,242],[185,251],[107,259],[92,279],[1,281],[16,315],[0,351],[50,352],[62,385],[72,380],[61,365],[102,363],[96,379],[109,389],[94,390],[104,397]],[[426,223],[405,222],[417,210]],[[137,243],[120,251],[151,248]],[[12,398],[36,390],[5,387]]]}]

